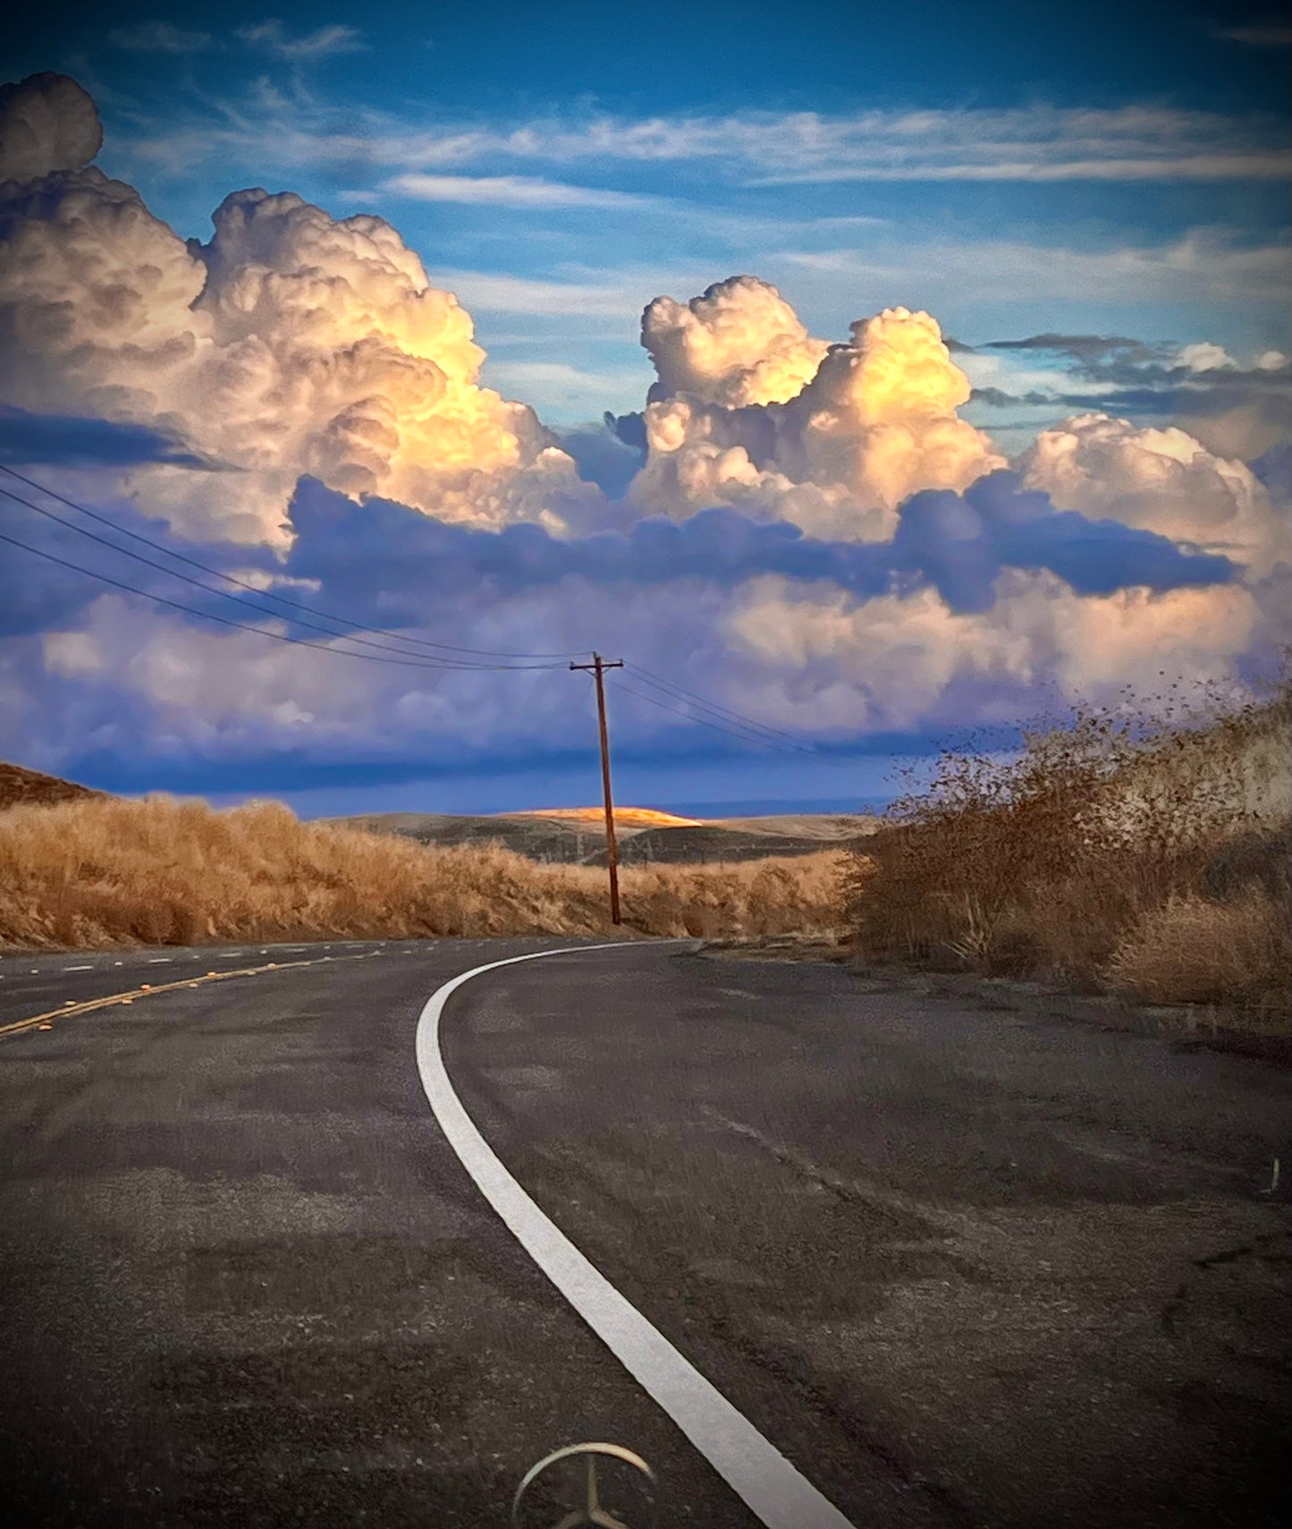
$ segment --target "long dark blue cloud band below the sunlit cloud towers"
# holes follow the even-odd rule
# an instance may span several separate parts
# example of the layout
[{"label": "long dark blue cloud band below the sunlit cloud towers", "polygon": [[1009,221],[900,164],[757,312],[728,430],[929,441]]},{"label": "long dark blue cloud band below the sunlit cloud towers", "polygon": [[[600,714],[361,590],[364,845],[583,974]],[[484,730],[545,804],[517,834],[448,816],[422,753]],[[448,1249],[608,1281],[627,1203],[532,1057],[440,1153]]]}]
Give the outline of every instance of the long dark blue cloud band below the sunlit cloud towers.
[{"label": "long dark blue cloud band below the sunlit cloud towers", "polygon": [[962,495],[913,495],[893,540],[881,543],[820,541],[785,521],[756,521],[721,506],[684,521],[658,517],[571,540],[536,524],[472,531],[383,500],[360,506],[308,479],[298,486],[292,524],[287,573],[318,581],[321,607],[344,602],[373,624],[412,624],[428,602],[472,589],[505,598],[570,578],[602,589],[680,581],[732,589],[780,575],[829,583],[860,599],[935,584],[956,610],[987,610],[1006,567],[1048,569],[1078,595],[1223,584],[1232,573],[1225,558],[1167,537],[1060,514],[1014,472],[993,472]]}]

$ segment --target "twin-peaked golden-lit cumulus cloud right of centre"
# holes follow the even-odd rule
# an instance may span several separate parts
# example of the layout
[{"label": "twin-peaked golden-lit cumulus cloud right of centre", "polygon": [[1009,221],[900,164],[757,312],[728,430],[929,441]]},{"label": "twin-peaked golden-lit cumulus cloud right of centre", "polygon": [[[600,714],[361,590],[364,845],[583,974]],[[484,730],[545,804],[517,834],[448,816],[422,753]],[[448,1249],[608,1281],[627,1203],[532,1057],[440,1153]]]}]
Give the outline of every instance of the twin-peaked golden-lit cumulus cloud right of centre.
[{"label": "twin-peaked golden-lit cumulus cloud right of centre", "polygon": [[776,287],[736,277],[686,307],[657,298],[643,344],[658,370],[632,489],[643,506],[730,503],[823,535],[883,537],[909,494],[1005,465],[959,419],[968,378],[929,313],[886,309],[822,349]]}]

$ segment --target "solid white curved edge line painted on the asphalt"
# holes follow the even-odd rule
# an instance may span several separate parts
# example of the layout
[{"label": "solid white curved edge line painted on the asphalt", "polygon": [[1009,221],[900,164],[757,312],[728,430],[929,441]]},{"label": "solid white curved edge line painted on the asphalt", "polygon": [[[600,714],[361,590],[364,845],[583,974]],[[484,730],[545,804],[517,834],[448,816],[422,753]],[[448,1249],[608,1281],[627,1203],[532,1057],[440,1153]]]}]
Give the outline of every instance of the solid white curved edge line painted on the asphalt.
[{"label": "solid white curved edge line painted on the asphalt", "polygon": [[444,1067],[440,1017],[463,983],[524,960],[623,948],[622,943],[576,945],[512,956],[464,971],[432,992],[417,1021],[417,1069],[431,1112],[466,1171],[525,1252],[767,1529],[852,1529],[834,1503],[544,1216],[480,1135]]}]

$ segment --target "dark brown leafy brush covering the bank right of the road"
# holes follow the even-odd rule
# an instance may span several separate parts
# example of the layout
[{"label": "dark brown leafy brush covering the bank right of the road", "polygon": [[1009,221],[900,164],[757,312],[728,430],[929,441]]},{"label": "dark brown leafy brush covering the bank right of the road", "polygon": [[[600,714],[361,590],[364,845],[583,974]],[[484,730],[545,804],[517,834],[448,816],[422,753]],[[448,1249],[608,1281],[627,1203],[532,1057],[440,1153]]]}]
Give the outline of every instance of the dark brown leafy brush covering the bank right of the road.
[{"label": "dark brown leafy brush covering the bank right of the road", "polygon": [[1246,1011],[1292,1029],[1292,691],[1087,709],[945,752],[849,856],[867,963]]}]

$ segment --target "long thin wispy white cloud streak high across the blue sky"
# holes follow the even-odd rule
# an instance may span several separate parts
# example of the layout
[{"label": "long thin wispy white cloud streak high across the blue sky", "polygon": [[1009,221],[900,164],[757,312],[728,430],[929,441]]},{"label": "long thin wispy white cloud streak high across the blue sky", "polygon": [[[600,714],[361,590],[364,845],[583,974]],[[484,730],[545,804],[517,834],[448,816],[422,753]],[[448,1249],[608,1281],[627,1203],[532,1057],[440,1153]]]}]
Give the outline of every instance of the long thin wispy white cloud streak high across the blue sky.
[{"label": "long thin wispy white cloud streak high across the blue sky", "polygon": [[[244,28],[244,40],[281,57],[308,58],[360,46],[351,28],[289,40],[281,23]],[[186,162],[273,144],[284,165],[368,165],[446,173],[472,165],[525,164],[648,170],[715,170],[732,183],[832,180],[1268,180],[1292,173],[1284,122],[1275,113],[1220,113],[1133,106],[1109,110],[1034,106],[1014,110],[744,112],[722,116],[550,115],[480,127],[409,124],[373,109],[345,113],[293,101],[290,112],[249,102],[211,130],[139,135],[141,157]]]}]

